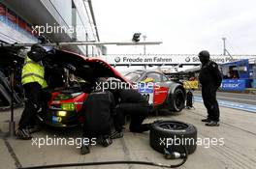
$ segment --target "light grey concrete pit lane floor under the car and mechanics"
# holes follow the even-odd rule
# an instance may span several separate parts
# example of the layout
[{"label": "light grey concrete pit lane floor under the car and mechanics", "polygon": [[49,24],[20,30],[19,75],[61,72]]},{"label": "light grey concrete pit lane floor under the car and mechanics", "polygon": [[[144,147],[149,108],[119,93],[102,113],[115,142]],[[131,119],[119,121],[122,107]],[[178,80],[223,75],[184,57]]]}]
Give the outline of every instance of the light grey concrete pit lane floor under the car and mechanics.
[{"label": "light grey concrete pit lane floor under the car and mechanics", "polygon": [[[205,140],[199,145],[187,162],[179,168],[188,169],[254,169],[256,167],[256,114],[226,107],[220,107],[220,127],[205,127],[201,119],[205,117],[206,109],[201,102],[195,103],[196,109],[184,109],[178,114],[150,117],[146,122],[158,119],[178,120],[193,124],[198,128],[198,137]],[[15,119],[19,119],[22,109],[16,109]],[[179,160],[166,160],[163,155],[149,147],[148,132],[131,133],[126,130],[124,137],[113,140],[108,148],[100,145],[92,146],[89,155],[80,155],[76,146],[43,146],[39,148],[32,141],[16,140],[3,137],[8,131],[10,111],[0,113],[0,168],[16,168],[56,163],[76,163],[106,160],[145,160],[166,164],[175,164]],[[80,128],[67,130],[47,128],[34,133],[34,138],[48,137],[79,137]],[[224,139],[224,145],[208,145],[208,139]],[[208,147],[209,146],[209,147]],[[74,167],[82,168],[82,167]],[[83,167],[85,168],[85,167]],[[104,165],[86,168],[157,168],[143,165]]]}]

